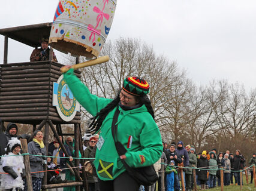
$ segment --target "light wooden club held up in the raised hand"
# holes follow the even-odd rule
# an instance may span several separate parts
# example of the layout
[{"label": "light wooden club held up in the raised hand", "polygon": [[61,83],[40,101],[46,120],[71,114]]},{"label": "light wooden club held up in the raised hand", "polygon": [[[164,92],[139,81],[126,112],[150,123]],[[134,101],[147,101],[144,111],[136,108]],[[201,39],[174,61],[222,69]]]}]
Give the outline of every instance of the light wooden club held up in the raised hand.
[{"label": "light wooden club held up in the raised hand", "polygon": [[[101,63],[104,63],[106,61],[109,61],[109,56],[102,56],[102,57],[99,57],[99,58],[95,58],[94,60],[89,60],[89,61],[86,61],[86,62],[83,62],[83,63],[75,64],[75,65],[71,66],[70,68],[73,68],[73,69],[76,70],[76,69],[79,69],[79,68],[82,68],[82,67],[88,67],[88,66],[93,66],[93,65],[96,65],[96,64],[101,64]],[[62,73],[68,72],[68,70],[70,68],[62,67],[61,72]]]}]

